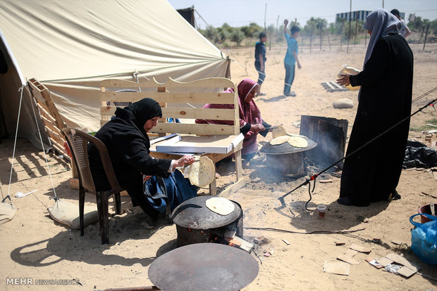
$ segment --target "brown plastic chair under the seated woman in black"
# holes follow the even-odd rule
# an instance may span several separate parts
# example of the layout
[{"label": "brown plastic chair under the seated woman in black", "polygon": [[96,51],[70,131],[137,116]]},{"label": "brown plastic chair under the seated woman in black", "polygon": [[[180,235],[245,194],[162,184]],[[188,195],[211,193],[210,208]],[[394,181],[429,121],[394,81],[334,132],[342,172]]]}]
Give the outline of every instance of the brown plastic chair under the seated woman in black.
[{"label": "brown plastic chair under the seated woman in black", "polygon": [[[96,195],[97,211],[99,213],[99,225],[101,233],[101,243],[109,243],[109,223],[108,223],[108,200],[114,195],[114,206],[116,214],[121,214],[120,192],[124,189],[118,185],[116,174],[113,172],[111,158],[109,157],[106,145],[99,138],[96,138],[84,131],[65,127],[62,129],[70,146],[73,159],[79,173],[79,215],[80,215],[80,235],[84,234],[83,214],[85,205],[85,192]],[[110,190],[97,191],[92,179],[90,160],[88,160],[88,143],[95,145],[99,151],[106,178],[111,186]]]}]

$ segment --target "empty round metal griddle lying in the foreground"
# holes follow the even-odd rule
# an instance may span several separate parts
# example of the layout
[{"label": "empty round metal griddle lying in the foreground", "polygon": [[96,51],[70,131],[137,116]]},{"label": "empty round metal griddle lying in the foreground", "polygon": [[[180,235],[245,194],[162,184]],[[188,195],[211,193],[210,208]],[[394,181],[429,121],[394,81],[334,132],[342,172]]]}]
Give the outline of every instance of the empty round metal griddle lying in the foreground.
[{"label": "empty round metal griddle lying in the foreground", "polygon": [[259,272],[251,254],[217,243],[185,245],[155,259],[149,279],[161,290],[240,290]]}]

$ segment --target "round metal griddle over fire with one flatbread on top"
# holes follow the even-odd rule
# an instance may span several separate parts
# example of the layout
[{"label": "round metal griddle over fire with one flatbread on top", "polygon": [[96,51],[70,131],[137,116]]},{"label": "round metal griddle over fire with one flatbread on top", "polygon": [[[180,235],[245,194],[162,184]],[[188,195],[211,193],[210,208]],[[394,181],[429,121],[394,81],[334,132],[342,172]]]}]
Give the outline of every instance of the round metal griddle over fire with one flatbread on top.
[{"label": "round metal griddle over fire with one flatbread on top", "polygon": [[209,198],[215,196],[198,196],[180,204],[171,213],[171,220],[178,226],[193,229],[211,229],[226,226],[241,215],[241,207],[236,205],[235,209],[228,215],[220,215],[212,212],[206,205]]}]

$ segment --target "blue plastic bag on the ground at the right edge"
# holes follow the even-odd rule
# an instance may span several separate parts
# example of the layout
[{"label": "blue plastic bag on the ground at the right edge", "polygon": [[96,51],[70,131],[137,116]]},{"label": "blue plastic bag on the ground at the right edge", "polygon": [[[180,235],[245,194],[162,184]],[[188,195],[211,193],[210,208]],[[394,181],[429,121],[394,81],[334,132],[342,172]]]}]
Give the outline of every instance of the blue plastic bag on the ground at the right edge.
[{"label": "blue plastic bag on the ground at the right edge", "polygon": [[[414,216],[424,215],[431,219],[424,224],[413,221]],[[414,214],[410,217],[411,249],[426,264],[437,265],[437,217],[429,214]]]}]

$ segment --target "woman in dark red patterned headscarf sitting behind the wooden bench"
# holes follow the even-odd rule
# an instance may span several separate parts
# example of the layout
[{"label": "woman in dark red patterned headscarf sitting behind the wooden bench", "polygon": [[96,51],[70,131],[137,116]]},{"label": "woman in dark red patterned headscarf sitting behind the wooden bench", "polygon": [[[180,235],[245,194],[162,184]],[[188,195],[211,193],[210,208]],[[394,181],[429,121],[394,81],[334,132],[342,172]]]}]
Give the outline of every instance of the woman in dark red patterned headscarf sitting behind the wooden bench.
[{"label": "woman in dark red patterned headscarf sitting behind the wooden bench", "polygon": [[[240,113],[240,133],[245,136],[242,143],[242,158],[244,160],[252,160],[252,157],[257,153],[257,134],[266,136],[269,130],[266,127],[271,127],[270,124],[264,122],[261,118],[257,104],[253,100],[257,93],[259,84],[252,79],[243,79],[238,84],[238,111]],[[234,89],[230,88],[225,93],[234,93]],[[207,104],[204,108],[233,108],[232,104]],[[196,123],[200,124],[233,124],[228,120],[212,120],[212,119],[196,119]]]}]

